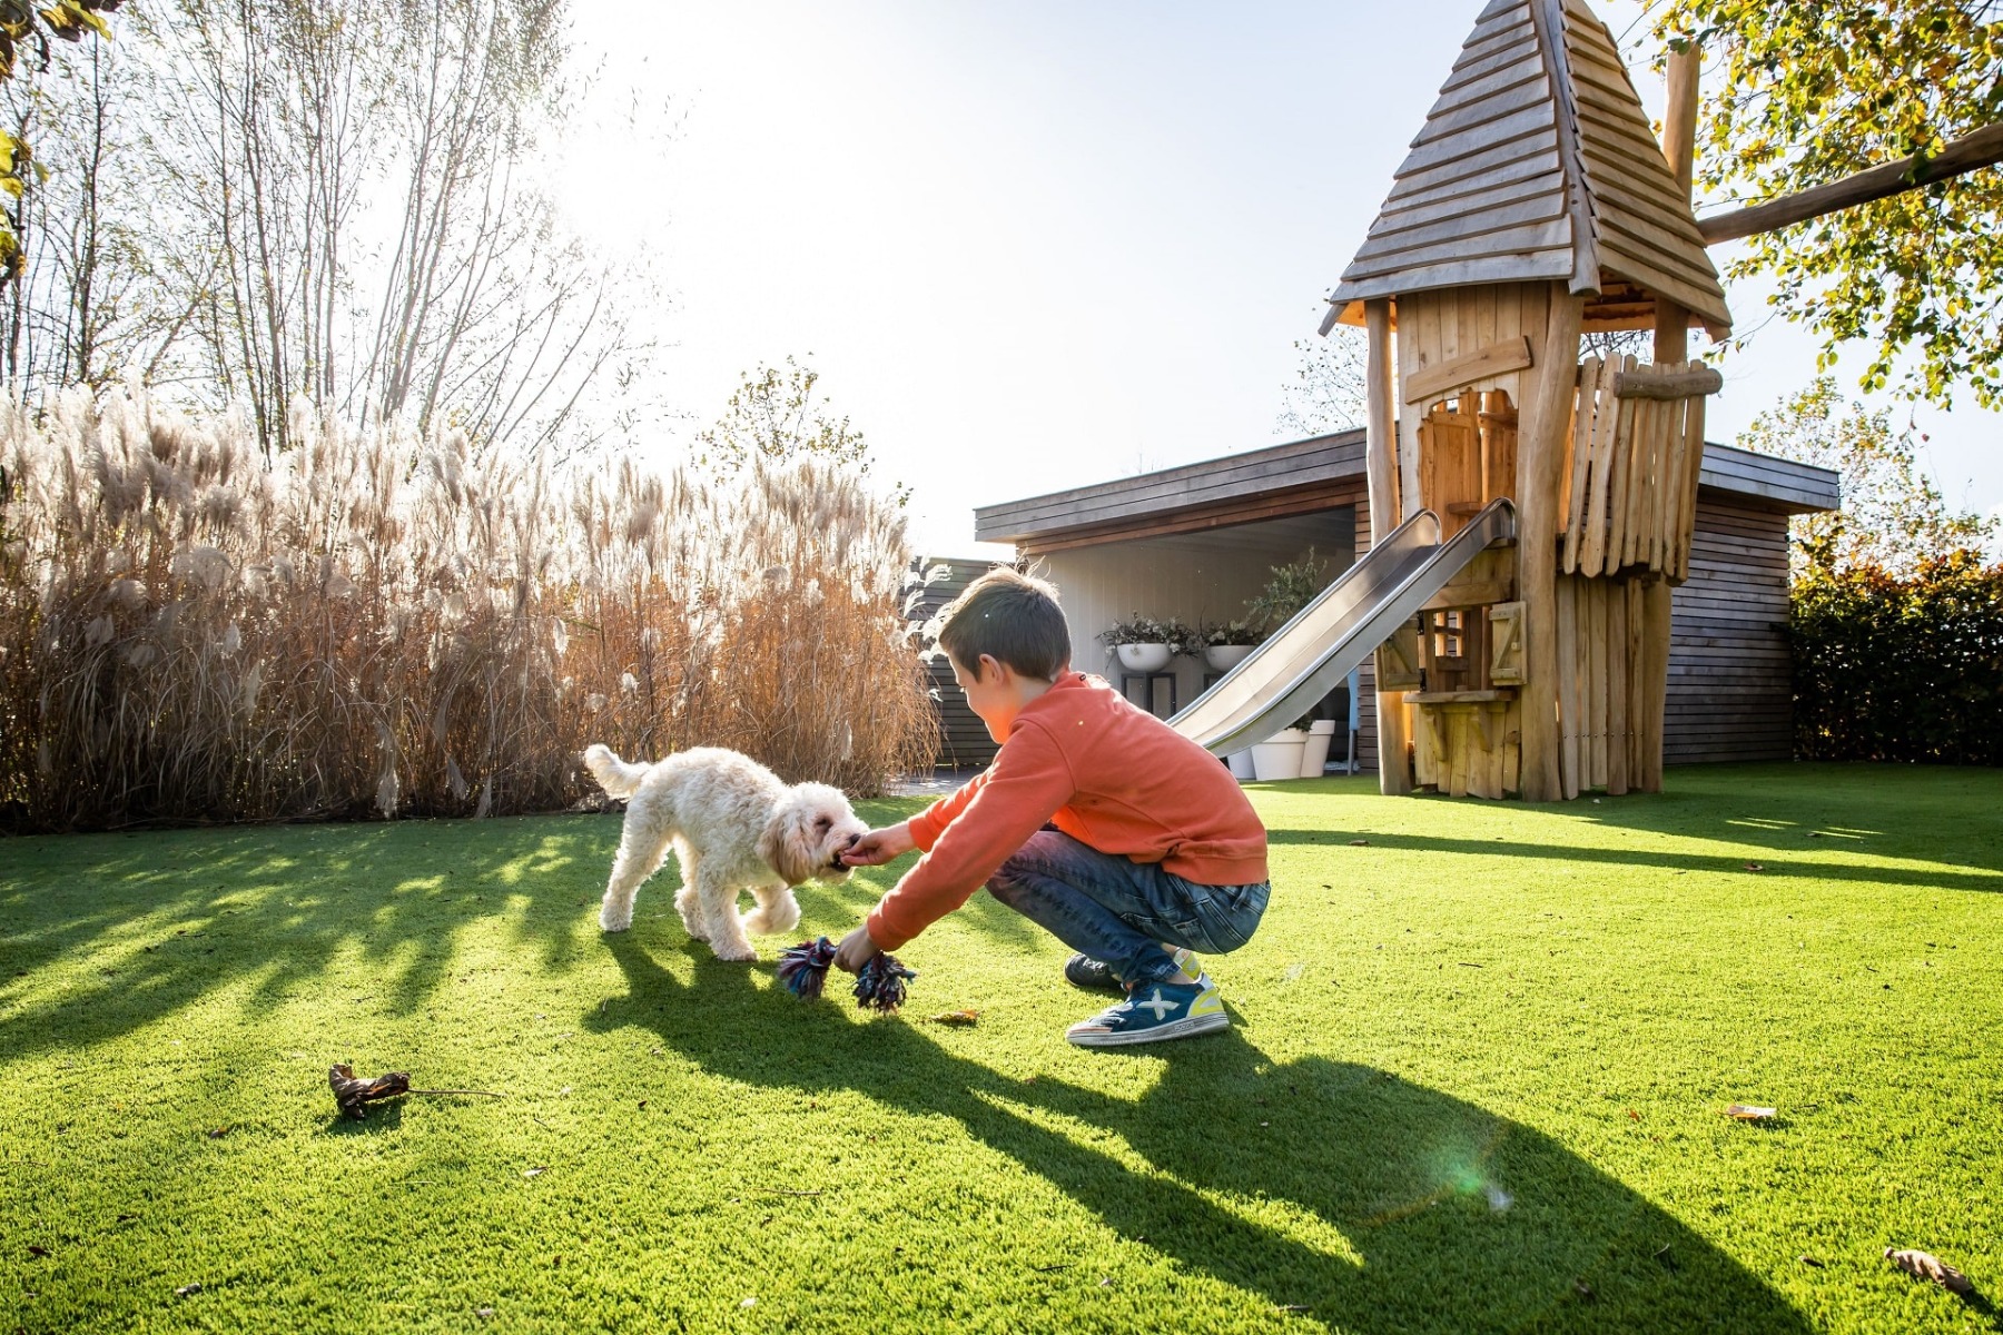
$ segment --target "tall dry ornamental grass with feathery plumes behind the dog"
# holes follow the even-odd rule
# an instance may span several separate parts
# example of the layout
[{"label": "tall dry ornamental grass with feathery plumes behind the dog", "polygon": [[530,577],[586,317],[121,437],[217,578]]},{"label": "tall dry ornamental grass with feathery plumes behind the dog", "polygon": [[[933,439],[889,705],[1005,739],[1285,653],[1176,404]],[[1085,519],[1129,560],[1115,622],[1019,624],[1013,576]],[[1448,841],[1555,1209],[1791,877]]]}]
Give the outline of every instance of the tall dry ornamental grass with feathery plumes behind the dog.
[{"label": "tall dry ornamental grass with feathery plumes behind the dog", "polygon": [[855,476],[553,476],[302,402],[290,432],[0,408],[10,825],[551,811],[593,741],[855,795],[929,763],[903,520]]}]

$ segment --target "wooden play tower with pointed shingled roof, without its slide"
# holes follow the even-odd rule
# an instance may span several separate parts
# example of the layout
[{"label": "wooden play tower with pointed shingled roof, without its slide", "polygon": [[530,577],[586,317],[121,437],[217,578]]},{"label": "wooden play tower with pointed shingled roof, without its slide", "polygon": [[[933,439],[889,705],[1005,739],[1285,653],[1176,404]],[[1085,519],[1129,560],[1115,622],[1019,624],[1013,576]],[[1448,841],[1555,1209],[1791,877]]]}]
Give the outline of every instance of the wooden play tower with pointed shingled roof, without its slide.
[{"label": "wooden play tower with pointed shingled roof, without its slide", "polygon": [[[1494,0],[1330,296],[1322,332],[1370,338],[1372,540],[1516,504],[1516,544],[1378,650],[1386,793],[1660,787],[1668,598],[1719,386],[1685,340],[1731,326],[1683,136],[1673,168],[1584,0]],[[1634,328],[1652,364],[1580,364],[1582,332]]]}]

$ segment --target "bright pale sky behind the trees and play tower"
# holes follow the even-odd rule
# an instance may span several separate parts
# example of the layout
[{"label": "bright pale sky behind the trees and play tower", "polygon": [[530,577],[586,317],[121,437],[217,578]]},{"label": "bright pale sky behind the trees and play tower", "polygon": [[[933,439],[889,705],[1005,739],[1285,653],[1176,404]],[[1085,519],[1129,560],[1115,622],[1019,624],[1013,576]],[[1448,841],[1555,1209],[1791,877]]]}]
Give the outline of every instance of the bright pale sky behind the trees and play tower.
[{"label": "bright pale sky behind the trees and play tower", "polygon": [[[1480,8],[665,0],[579,24],[605,86],[679,118],[657,156],[577,146],[563,184],[673,294],[665,396],[687,418],[639,448],[671,462],[741,370],[793,354],[913,488],[919,550],[977,554],[977,504],[1286,438],[1294,342]],[[1616,36],[1638,14],[1598,8]],[[1660,78],[1634,80],[1654,112]],[[1725,364],[1715,440],[1815,374],[1761,292],[1727,296],[1759,332]],[[1863,360],[1839,366],[1851,394]],[[1997,414],[1915,418],[1947,498],[2003,512]]]}]

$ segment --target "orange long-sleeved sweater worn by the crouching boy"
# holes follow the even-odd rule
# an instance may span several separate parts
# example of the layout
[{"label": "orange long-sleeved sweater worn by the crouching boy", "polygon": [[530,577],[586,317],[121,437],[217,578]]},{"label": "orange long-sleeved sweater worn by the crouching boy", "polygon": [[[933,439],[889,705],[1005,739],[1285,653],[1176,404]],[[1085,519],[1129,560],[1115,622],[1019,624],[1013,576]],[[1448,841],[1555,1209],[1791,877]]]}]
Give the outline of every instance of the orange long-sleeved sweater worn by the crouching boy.
[{"label": "orange long-sleeved sweater worn by the crouching boy", "polygon": [[925,857],[869,913],[869,939],[895,951],[1044,825],[1204,885],[1266,881],[1266,827],[1230,771],[1102,679],[1066,673],[1016,717],[993,765],[911,817]]}]

